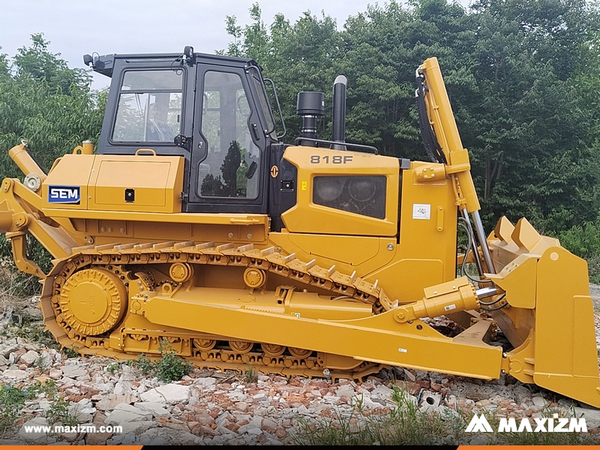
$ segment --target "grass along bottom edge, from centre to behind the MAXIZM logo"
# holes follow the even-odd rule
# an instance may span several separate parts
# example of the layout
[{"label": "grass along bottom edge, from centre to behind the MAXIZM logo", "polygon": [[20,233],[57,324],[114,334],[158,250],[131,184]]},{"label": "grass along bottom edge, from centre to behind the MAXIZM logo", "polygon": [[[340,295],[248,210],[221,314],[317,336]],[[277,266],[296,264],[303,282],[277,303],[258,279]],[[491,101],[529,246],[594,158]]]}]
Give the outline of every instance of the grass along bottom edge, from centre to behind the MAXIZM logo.
[{"label": "grass along bottom edge, from centre to behind the MAXIZM logo", "polygon": [[[300,431],[292,436],[299,445],[468,445],[478,435],[488,445],[593,445],[599,435],[582,432],[498,432],[500,417],[484,413],[492,433],[466,433],[473,413],[461,410],[424,411],[415,398],[394,386],[394,406],[389,414],[375,415],[365,410],[363,402],[355,399],[349,414],[337,408],[331,417],[314,421],[299,419]],[[545,408],[542,417],[576,417],[573,409]],[[554,419],[555,423],[557,419]],[[517,419],[519,424],[521,419]],[[530,419],[535,430],[536,422]],[[478,444],[480,444],[478,442]]]}]

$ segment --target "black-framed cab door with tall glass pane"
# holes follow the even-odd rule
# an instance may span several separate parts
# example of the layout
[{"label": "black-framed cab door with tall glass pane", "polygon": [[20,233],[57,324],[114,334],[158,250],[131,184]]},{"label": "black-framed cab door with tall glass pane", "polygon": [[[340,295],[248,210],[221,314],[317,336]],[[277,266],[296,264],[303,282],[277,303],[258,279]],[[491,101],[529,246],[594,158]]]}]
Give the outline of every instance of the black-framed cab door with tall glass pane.
[{"label": "black-framed cab door with tall glass pane", "polygon": [[266,213],[265,127],[244,67],[197,64],[188,212]]}]

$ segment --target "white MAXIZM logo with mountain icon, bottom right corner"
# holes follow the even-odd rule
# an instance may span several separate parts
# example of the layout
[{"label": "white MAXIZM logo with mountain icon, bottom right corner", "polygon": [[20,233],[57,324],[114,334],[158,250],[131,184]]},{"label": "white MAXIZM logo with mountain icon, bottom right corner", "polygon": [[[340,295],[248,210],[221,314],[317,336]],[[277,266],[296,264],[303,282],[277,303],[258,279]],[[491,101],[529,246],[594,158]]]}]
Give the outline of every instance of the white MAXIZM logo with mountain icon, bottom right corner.
[{"label": "white MAXIZM logo with mountain icon, bottom right corner", "polygon": [[[534,433],[573,433],[575,431],[587,433],[587,424],[585,418],[576,419],[559,418],[558,414],[553,414],[552,417],[534,418],[532,424],[527,417],[521,419],[517,424],[517,419],[514,417],[502,417],[498,425],[499,433],[522,433],[529,431]],[[492,433],[492,427],[483,414],[478,416],[475,414],[465,430],[467,433]]]}]

